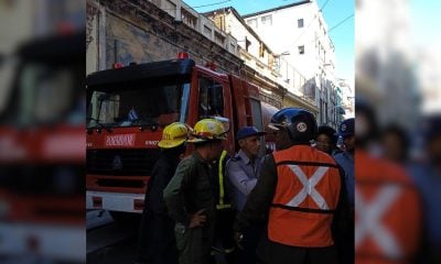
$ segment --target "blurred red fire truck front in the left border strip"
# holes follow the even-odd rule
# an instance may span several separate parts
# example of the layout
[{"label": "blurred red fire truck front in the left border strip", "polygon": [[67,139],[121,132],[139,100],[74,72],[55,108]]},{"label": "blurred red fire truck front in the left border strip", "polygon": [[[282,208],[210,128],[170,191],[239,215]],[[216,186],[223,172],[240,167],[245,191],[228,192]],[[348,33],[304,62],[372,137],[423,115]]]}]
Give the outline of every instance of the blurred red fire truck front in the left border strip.
[{"label": "blurred red fire truck front in the left border strip", "polygon": [[1,256],[85,260],[84,42],[58,34],[14,54],[0,111]]}]

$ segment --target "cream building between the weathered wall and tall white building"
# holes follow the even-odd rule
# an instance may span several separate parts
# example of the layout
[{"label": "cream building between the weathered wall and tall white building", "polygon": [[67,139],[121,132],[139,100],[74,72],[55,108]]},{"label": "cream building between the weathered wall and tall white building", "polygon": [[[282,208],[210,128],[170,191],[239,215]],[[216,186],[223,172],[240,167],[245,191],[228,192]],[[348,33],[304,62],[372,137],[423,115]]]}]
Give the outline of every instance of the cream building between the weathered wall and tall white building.
[{"label": "cream building between the weathered wall and tall white building", "polygon": [[[318,113],[314,101],[304,97],[303,92],[293,94],[294,90],[289,89],[290,84],[281,73],[293,73],[295,69],[283,58],[284,55],[272,52],[233,7],[206,12],[204,15],[237,40],[239,56],[251,69],[255,76],[251,79],[260,87],[263,100],[275,100],[271,105],[278,108],[302,107]],[[300,73],[297,74],[297,79],[304,84],[305,78]]]}]

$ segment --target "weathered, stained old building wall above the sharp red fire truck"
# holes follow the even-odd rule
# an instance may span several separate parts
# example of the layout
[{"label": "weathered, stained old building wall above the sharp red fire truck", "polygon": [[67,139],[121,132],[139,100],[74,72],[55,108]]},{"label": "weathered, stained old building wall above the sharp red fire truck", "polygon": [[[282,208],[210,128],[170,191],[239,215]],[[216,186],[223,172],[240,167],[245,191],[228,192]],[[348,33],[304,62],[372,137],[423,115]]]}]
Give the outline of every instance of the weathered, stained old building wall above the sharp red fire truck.
[{"label": "weathered, stained old building wall above the sharp red fire truck", "polygon": [[187,52],[197,64],[213,61],[219,72],[238,73],[239,57],[150,2],[101,0],[99,3],[106,13],[105,22],[101,19],[103,23],[97,23],[98,34],[105,36],[98,44],[100,56],[105,56],[99,61],[104,59],[105,68],[116,62],[147,63],[175,58],[179,52]]}]

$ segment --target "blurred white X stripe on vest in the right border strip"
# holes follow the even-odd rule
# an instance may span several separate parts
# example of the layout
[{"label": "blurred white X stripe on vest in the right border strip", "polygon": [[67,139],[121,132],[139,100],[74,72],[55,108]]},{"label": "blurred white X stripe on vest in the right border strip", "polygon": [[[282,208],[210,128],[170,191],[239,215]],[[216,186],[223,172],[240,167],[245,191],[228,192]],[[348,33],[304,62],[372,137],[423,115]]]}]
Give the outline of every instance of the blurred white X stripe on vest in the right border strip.
[{"label": "blurred white X stripe on vest in the right border strip", "polygon": [[396,238],[380,221],[401,191],[402,189],[396,185],[384,186],[372,202],[366,204],[355,188],[355,212],[358,219],[355,223],[355,249],[369,235],[387,256],[402,256]]}]

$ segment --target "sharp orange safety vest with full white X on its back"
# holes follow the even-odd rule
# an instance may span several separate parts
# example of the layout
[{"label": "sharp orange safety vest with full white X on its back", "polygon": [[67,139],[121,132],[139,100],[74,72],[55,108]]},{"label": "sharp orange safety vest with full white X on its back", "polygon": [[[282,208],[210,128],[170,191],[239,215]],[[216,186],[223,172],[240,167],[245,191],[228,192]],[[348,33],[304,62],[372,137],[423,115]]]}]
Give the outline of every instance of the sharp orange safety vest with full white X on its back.
[{"label": "sharp orange safety vest with full white X on its back", "polygon": [[278,183],[269,211],[268,238],[302,248],[332,245],[331,223],[342,187],[335,161],[308,145],[272,155]]}]

